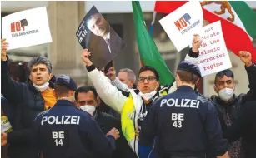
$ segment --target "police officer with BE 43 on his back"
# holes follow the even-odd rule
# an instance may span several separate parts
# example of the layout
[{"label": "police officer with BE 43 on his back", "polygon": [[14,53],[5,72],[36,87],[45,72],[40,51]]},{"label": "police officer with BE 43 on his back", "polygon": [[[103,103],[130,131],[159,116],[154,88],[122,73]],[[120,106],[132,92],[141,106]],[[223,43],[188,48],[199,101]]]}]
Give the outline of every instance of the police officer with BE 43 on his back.
[{"label": "police officer with BE 43 on his back", "polygon": [[161,158],[204,158],[208,153],[228,157],[227,140],[223,139],[215,107],[194,91],[200,77],[197,65],[179,63],[178,89],[159,98],[143,121],[140,158],[148,157],[148,146],[154,146],[155,157]]}]

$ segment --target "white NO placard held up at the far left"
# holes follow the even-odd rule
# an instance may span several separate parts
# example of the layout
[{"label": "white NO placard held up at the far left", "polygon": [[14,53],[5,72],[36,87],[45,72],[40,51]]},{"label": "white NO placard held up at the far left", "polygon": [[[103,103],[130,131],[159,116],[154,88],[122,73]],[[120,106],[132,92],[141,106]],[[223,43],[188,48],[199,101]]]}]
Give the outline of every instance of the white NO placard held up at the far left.
[{"label": "white NO placard held up at the far left", "polygon": [[2,38],[7,39],[8,50],[52,42],[46,7],[2,17]]}]

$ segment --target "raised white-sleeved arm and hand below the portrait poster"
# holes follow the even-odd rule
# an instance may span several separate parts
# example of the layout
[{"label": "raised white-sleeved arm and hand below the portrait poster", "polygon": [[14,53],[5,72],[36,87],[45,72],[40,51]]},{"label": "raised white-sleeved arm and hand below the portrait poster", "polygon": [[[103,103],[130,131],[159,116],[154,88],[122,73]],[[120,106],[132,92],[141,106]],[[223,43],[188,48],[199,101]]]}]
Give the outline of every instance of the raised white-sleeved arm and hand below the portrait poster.
[{"label": "raised white-sleeved arm and hand below the portrait poster", "polygon": [[98,96],[114,111],[121,113],[123,111],[123,105],[128,98],[129,93],[125,91],[119,91],[117,87],[113,86],[108,77],[105,77],[103,72],[98,71],[93,66],[93,62],[88,58],[90,56],[88,50],[84,50],[82,54],[83,62],[87,66],[88,77],[93,82],[93,86],[98,92]]}]

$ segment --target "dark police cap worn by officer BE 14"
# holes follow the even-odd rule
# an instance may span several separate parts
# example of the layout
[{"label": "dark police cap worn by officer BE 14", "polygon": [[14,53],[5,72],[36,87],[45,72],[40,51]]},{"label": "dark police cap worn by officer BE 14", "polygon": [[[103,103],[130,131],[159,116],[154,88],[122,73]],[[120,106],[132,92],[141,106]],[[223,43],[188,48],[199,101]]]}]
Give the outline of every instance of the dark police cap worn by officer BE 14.
[{"label": "dark police cap worn by officer BE 14", "polygon": [[69,90],[73,90],[76,91],[77,90],[77,84],[75,81],[73,81],[73,79],[71,77],[68,77],[67,75],[61,75],[59,76],[56,81],[55,81],[56,85],[59,86],[65,86],[67,87]]}]

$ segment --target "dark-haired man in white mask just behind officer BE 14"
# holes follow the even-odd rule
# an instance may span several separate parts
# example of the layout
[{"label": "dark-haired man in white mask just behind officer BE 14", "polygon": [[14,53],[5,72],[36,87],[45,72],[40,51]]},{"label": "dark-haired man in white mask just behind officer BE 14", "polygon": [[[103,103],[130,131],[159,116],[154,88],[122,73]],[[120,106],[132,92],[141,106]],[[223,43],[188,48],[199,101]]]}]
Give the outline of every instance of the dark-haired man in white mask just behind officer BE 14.
[{"label": "dark-haired man in white mask just behind officer BE 14", "polygon": [[[81,108],[83,111],[87,111],[94,117],[104,134],[107,134],[108,131],[113,129],[118,129],[118,131],[121,131],[121,121],[101,111],[99,106],[100,100],[97,91],[93,86],[79,87],[75,92],[75,99],[79,108]],[[132,149],[128,146],[128,142],[125,140],[122,132],[120,133],[120,138],[116,141],[116,150],[113,151],[112,157],[137,157]]]}]

